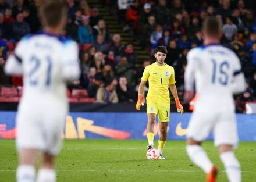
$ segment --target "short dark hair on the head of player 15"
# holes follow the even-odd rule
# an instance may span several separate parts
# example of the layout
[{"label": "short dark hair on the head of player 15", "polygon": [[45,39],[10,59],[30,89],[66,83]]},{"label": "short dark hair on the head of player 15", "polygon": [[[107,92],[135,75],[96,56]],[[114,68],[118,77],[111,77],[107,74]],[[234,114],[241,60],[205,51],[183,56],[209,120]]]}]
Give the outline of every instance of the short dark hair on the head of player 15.
[{"label": "short dark hair on the head of player 15", "polygon": [[218,37],[219,31],[221,30],[219,20],[214,16],[207,17],[204,20],[202,28],[206,34],[213,37]]}]

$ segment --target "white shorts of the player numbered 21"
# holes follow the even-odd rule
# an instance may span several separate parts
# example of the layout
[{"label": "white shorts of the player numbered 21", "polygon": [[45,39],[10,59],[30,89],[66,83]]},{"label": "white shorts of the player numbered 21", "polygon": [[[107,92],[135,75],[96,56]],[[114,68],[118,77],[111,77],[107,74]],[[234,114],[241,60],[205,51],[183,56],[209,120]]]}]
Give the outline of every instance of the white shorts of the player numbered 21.
[{"label": "white shorts of the player numbered 21", "polygon": [[[38,104],[38,103],[37,103]],[[16,119],[16,147],[38,149],[52,155],[61,150],[61,131],[67,115],[66,104],[21,105]]]}]

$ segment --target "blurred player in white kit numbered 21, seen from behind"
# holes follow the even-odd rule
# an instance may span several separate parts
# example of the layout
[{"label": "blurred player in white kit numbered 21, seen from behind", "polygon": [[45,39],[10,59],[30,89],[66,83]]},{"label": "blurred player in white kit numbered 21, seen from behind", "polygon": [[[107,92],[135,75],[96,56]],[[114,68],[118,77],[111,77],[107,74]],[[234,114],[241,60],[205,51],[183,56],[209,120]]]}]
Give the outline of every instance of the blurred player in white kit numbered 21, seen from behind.
[{"label": "blurred player in white kit numbered 21, seen from behind", "polygon": [[[6,74],[23,74],[24,82],[16,118],[18,182],[56,181],[55,157],[69,109],[66,82],[80,76],[77,44],[61,36],[67,19],[65,3],[45,0],[39,12],[43,31],[22,38],[5,66]],[[36,177],[38,151],[42,162]]]}]

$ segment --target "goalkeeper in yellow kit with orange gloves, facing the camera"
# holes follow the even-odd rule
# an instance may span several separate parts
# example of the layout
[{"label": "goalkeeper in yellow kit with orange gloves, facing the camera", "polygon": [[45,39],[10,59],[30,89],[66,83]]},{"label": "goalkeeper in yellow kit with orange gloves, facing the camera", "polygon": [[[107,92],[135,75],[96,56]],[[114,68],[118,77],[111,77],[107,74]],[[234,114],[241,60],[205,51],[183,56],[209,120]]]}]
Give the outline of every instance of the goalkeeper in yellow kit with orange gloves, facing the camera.
[{"label": "goalkeeper in yellow kit with orange gloves, facing the camera", "polygon": [[164,46],[155,48],[154,56],[156,62],[145,67],[141,83],[138,88],[138,101],[136,104],[136,110],[140,110],[140,106],[143,103],[143,92],[147,81],[149,81],[149,89],[147,94],[147,149],[154,148],[154,125],[156,115],[159,120],[159,140],[158,151],[160,154],[159,159],[165,159],[162,155],[163,147],[165,146],[167,138],[168,122],[170,120],[170,91],[176,101],[177,111],[183,114],[183,107],[180,104],[177,89],[175,85],[175,74],[172,66],[165,63],[167,50]]}]

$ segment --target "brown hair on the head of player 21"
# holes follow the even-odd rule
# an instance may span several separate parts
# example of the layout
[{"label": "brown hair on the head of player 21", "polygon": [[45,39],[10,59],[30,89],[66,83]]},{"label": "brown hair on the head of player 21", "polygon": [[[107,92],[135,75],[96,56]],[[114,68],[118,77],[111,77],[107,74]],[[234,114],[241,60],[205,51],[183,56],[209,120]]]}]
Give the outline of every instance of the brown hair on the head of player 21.
[{"label": "brown hair on the head of player 21", "polygon": [[62,17],[67,18],[67,6],[63,1],[48,1],[42,3],[39,8],[41,20],[44,19],[47,26],[58,26]]}]

